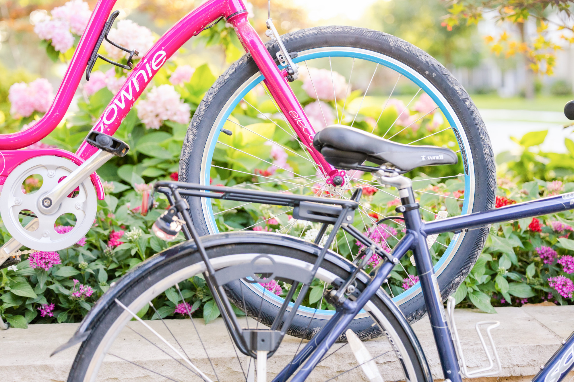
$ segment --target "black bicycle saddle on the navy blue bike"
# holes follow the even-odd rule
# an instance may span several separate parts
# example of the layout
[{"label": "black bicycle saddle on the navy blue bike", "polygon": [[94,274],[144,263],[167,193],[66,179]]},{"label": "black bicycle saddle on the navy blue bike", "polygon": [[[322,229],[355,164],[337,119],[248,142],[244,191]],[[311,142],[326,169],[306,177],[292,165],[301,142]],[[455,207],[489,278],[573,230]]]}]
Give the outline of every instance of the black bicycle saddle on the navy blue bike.
[{"label": "black bicycle saddle on the navy blue bike", "polygon": [[458,162],[456,153],[444,147],[403,145],[341,124],[317,132],[313,146],[325,161],[343,170],[355,169],[364,161],[378,165],[391,163],[402,171]]}]

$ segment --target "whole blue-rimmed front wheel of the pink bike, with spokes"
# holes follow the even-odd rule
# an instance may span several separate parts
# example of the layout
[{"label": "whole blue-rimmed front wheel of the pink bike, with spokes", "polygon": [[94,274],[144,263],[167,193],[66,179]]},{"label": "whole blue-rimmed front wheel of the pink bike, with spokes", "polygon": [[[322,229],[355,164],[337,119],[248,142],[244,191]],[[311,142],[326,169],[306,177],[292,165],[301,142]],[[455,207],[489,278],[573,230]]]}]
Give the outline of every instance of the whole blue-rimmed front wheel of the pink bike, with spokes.
[{"label": "whole blue-rimmed front wheel of the pink bike, with spokes", "polygon": [[[435,220],[440,211],[457,216],[493,208],[496,178],[490,139],[470,96],[438,61],[400,38],[364,28],[312,28],[282,40],[290,52],[298,53],[294,61],[300,79],[290,85],[316,131],[340,123],[396,142],[457,151],[457,165],[420,167],[407,174],[423,219]],[[266,45],[274,56],[277,44]],[[220,134],[222,128],[232,131],[231,137]],[[347,171],[342,189],[325,184],[250,56],[232,65],[197,108],[181,154],[180,180],[338,198],[363,188],[355,227],[390,250],[404,234],[400,221],[374,226],[378,219],[395,215],[399,199],[395,190],[382,188],[370,174]],[[319,226],[292,219],[289,208],[188,201],[202,235],[256,229],[313,241],[319,231]],[[430,248],[443,298],[468,275],[487,233],[487,228],[443,233]],[[362,250],[343,232],[331,249],[347,259]],[[426,310],[416,268],[405,257],[391,276],[385,290],[410,322],[417,321]],[[309,307],[332,314],[326,303],[316,303]],[[262,309],[273,307],[263,304]],[[304,309],[299,315],[310,319]]]}]

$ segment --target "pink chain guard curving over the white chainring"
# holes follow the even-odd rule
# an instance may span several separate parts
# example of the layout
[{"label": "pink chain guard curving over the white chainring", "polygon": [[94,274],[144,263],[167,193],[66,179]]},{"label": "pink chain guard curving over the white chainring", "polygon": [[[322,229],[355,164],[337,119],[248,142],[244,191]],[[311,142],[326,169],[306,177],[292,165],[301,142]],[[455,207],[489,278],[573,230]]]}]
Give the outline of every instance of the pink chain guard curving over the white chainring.
[{"label": "pink chain guard curving over the white chainring", "polygon": [[[56,157],[63,157],[71,160],[78,166],[84,163],[84,159],[78,157],[76,154],[60,149],[3,150],[0,151],[0,162],[3,162],[0,163],[0,167],[2,167],[2,170],[0,170],[0,185],[4,184],[6,178],[10,175],[12,170],[15,169],[15,167],[20,166],[25,161],[28,161],[28,159],[40,157],[42,155],[55,155]],[[104,200],[106,194],[104,193],[104,188],[100,177],[98,174],[93,173],[90,175],[90,179],[92,180],[92,184],[94,184],[96,193],[98,194],[98,199]]]}]

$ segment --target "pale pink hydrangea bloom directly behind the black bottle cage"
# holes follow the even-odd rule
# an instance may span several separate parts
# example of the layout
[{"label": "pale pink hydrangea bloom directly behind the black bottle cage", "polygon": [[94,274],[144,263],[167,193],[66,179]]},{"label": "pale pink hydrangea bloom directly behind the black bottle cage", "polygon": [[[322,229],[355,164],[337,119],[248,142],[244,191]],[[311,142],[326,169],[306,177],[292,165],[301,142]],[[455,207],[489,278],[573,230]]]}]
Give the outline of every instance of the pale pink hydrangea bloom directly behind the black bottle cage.
[{"label": "pale pink hydrangea bloom directly behind the black bottle cage", "polygon": [[[139,52],[139,57],[142,57],[149,48],[153,45],[152,31],[136,24],[131,20],[118,21],[117,28],[110,29],[108,38],[116,44],[123,46],[127,49],[135,49]],[[123,57],[129,57],[130,54],[118,49],[106,41],[106,51],[108,56],[114,60],[121,60]]]}]

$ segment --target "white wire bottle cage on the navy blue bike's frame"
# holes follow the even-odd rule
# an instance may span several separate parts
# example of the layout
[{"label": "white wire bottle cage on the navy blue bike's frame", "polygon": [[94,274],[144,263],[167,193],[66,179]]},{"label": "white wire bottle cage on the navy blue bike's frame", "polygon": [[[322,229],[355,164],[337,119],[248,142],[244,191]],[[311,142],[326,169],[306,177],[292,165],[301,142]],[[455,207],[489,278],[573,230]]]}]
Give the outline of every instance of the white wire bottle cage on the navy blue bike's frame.
[{"label": "white wire bottle cage on the navy blue bike's frame", "polygon": [[[459,358],[461,375],[464,378],[479,378],[479,377],[494,376],[494,375],[497,375],[498,373],[500,373],[502,371],[502,364],[501,364],[500,358],[498,357],[497,348],[494,345],[494,340],[492,340],[492,334],[490,333],[490,331],[494,328],[498,328],[498,326],[500,326],[501,323],[499,321],[479,321],[479,322],[476,322],[474,327],[476,329],[476,333],[478,333],[478,338],[480,340],[480,344],[482,345],[484,353],[486,353],[486,358],[488,359],[488,367],[480,368],[478,370],[468,371],[468,368],[466,365],[466,360],[464,359],[463,348],[460,345],[459,332],[458,332],[458,330],[456,330],[455,298],[453,298],[452,296],[448,297],[447,313],[448,313],[448,319],[451,323],[450,329],[451,329],[452,342],[455,345],[456,356]],[[486,328],[486,334],[488,336],[488,341],[490,341],[492,353],[494,353],[494,359],[497,362],[497,369],[495,369],[495,370],[493,369],[494,363],[492,362],[492,357],[490,356],[490,352],[486,348],[486,343],[484,342],[484,338],[482,336],[482,333],[480,333],[479,326],[481,326],[481,325],[490,325],[490,326],[488,326],[488,328]]]}]

